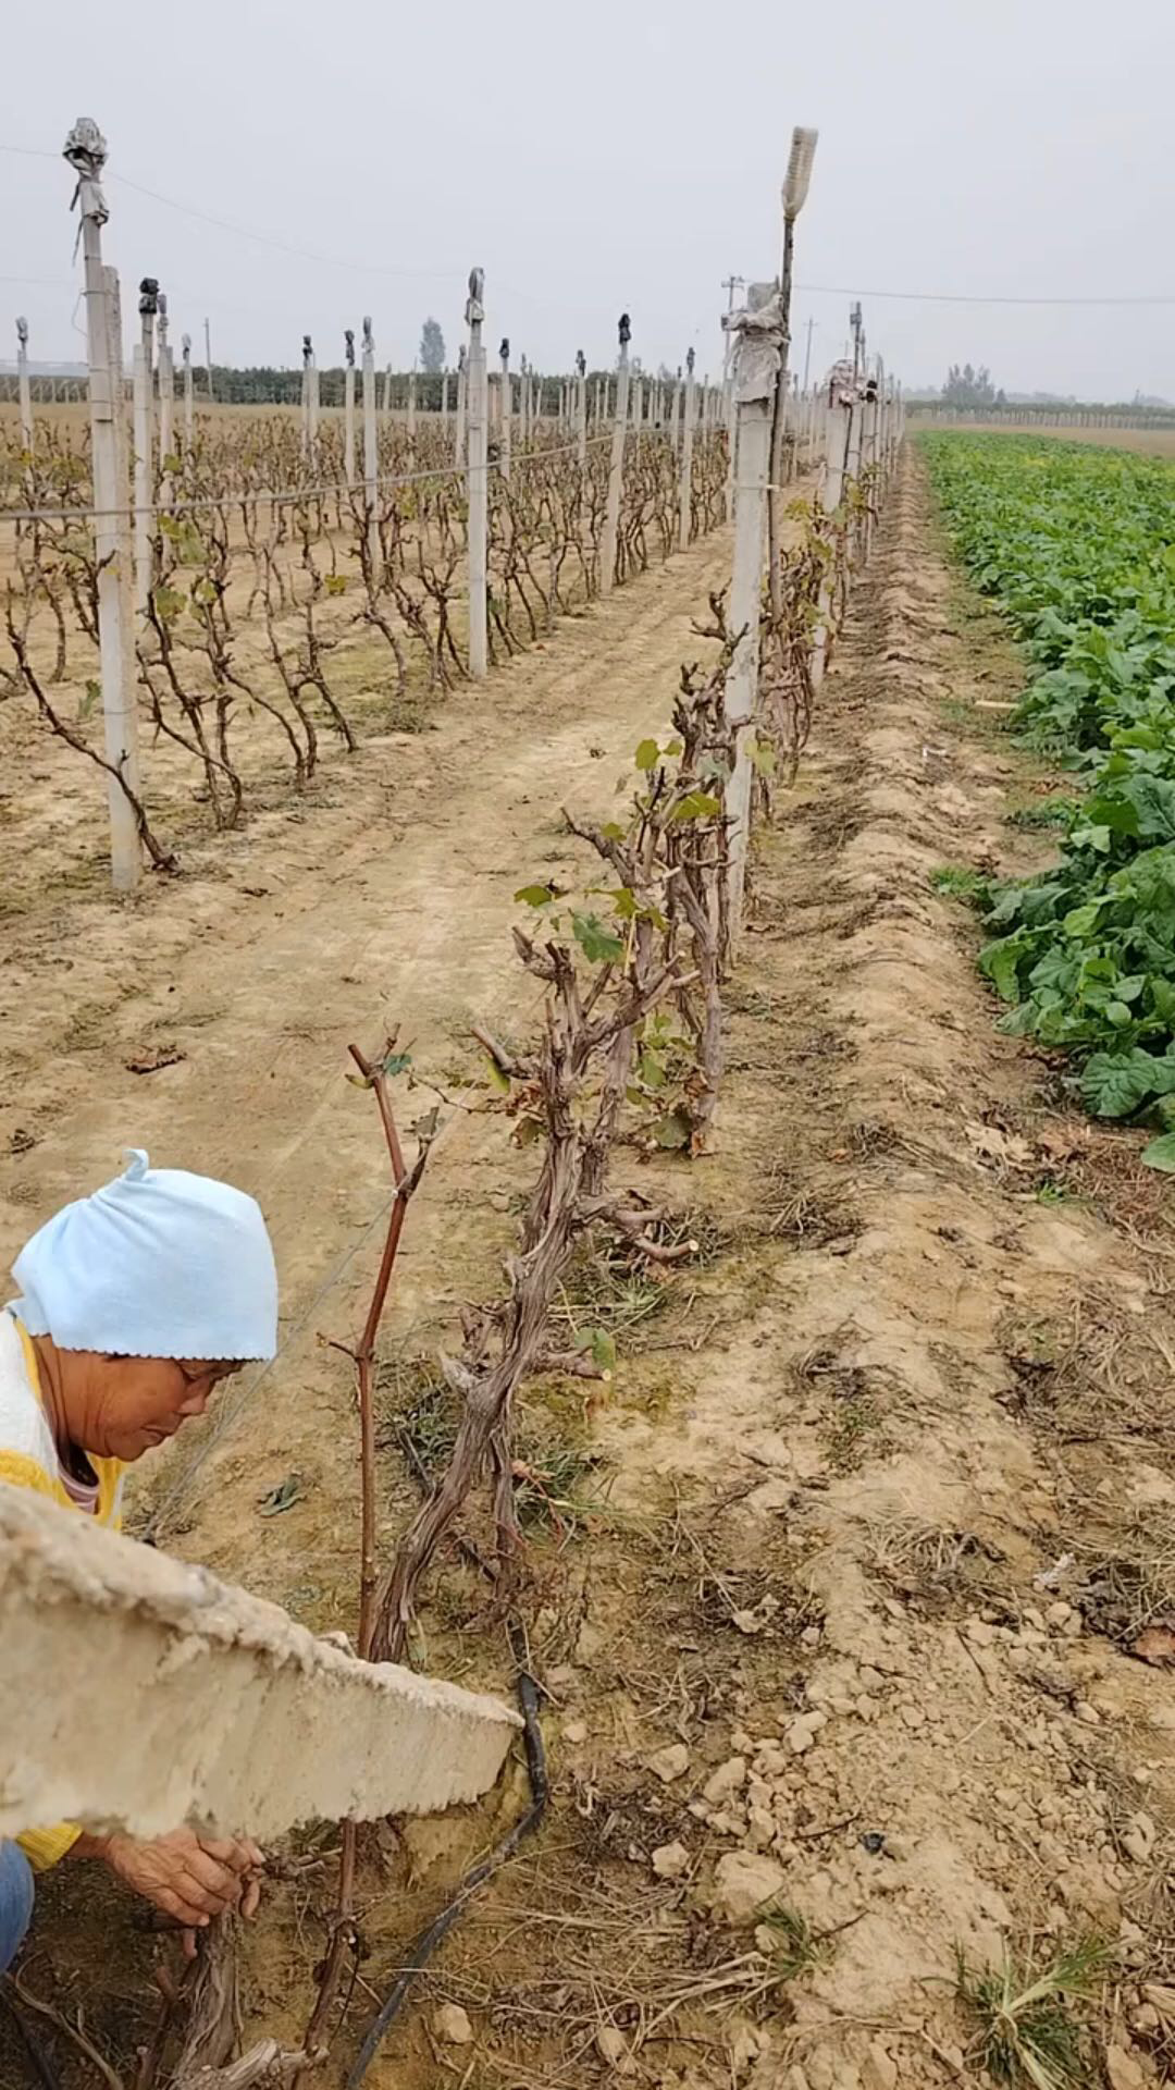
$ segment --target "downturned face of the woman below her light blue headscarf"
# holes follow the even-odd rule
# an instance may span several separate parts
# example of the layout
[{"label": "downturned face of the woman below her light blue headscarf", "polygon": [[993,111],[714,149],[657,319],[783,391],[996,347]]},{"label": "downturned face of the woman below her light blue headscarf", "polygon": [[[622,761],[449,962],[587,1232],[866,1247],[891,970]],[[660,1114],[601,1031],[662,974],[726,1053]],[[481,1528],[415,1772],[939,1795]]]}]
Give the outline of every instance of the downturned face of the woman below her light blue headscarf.
[{"label": "downturned face of the woman below her light blue headscarf", "polygon": [[94,1459],[142,1459],[203,1415],[238,1363],[176,1356],[100,1356],[59,1350],[69,1434]]}]

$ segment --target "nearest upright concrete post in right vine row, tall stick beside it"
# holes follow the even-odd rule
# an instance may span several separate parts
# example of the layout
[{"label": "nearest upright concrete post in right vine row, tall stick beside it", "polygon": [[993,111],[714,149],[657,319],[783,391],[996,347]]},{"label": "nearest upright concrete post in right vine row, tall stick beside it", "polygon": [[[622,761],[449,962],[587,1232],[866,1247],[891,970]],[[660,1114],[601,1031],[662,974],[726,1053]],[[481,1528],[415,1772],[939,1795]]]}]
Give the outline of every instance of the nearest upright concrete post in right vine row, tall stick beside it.
[{"label": "nearest upright concrete post in right vine row, tall stick beside it", "polygon": [[[774,284],[751,284],[746,311],[728,316],[736,334],[734,405],[738,479],[734,485],[734,568],[730,579],[730,629],[742,637],[725,677],[725,717],[748,727],[759,696],[759,608],[763,589],[763,518],[771,422],[782,362],[782,309]],[[746,849],[751,828],[751,732],[738,734],[734,773],[725,786],[730,834],[730,936],[738,943]]]}]

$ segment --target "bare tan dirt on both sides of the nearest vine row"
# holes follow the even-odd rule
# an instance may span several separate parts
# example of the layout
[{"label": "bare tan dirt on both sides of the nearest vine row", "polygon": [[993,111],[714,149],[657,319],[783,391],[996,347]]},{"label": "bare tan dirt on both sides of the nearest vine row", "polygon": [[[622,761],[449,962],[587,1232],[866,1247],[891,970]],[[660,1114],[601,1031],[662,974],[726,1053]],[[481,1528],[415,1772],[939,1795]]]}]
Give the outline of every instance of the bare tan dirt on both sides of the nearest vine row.
[{"label": "bare tan dirt on both sides of the nearest vine row", "polygon": [[[144,1469],[138,1515],[320,1630],[353,1622],[355,1425],[318,1338],[362,1317],[387,1198],[345,1045],[399,1022],[450,1097],[385,1340],[389,1542],[406,1446],[429,1467],[452,1427],[435,1350],[491,1294],[533,1166],[466,1087],[462,1030],[525,1035],[512,892],[567,872],[558,807],[606,809],[663,723],[725,560],[711,539],[636,581],[220,872],[128,909],[54,901],[6,968],[4,1250],[123,1141],[234,1177],[272,1218],[282,1356]],[[1016,677],[907,458],[761,830],[715,1152],[619,1160],[688,1214],[698,1256],[663,1281],[579,1264],[569,1319],[617,1336],[615,1384],[546,1381],[519,1415],[548,1820],[433,1960],[374,2090],[985,2082],[955,1948],[1047,1965],[1089,1933],[1116,1954],[1091,2023],[1112,2090],[1167,2073],[1169,1191],[993,1030],[970,920],[930,884],[945,861],[1039,861],[1006,815],[1047,780],[983,709]],[[167,1041],[184,1058],[128,1070]],[[456,1553],[414,1659],[508,1687]],[[366,1837],[364,1958],[322,2082],[523,1802],[516,1766],[483,1808]],[[305,2023],[328,1845],[297,1841],[251,1933],[249,2029]],[[50,1885],[25,1979],[82,2000],[130,2084],[148,1944],[94,1891],[82,1868]],[[59,2052],[63,2082],[98,2080]]]}]

